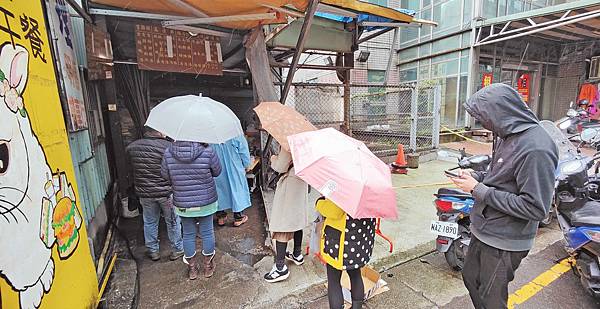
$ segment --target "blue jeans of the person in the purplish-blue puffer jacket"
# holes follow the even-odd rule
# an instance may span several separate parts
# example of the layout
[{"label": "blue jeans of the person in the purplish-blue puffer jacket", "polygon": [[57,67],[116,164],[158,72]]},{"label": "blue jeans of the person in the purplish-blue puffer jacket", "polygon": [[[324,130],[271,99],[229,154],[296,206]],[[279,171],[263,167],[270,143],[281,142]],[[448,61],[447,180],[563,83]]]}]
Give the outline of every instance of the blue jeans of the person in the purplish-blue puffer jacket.
[{"label": "blue jeans of the person in the purplish-blue puffer jacket", "polygon": [[212,255],[215,252],[215,231],[212,221],[213,215],[192,218],[181,217],[183,252],[186,258],[193,257],[196,254],[197,233],[200,233],[200,238],[202,238],[202,254]]}]

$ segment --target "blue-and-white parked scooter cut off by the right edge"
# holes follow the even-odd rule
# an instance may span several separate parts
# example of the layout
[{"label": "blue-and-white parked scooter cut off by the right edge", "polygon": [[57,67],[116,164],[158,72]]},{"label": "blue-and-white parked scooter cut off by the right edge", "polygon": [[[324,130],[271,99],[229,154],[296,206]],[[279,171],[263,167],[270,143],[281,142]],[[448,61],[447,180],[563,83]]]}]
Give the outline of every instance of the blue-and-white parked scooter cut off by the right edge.
[{"label": "blue-and-white parked scooter cut off by the right edge", "polygon": [[[582,143],[600,149],[600,131],[586,129]],[[579,153],[559,162],[555,190],[555,212],[566,241],[566,250],[576,260],[575,270],[583,286],[600,299],[600,152],[593,157]],[[590,168],[595,169],[590,172]]]}]

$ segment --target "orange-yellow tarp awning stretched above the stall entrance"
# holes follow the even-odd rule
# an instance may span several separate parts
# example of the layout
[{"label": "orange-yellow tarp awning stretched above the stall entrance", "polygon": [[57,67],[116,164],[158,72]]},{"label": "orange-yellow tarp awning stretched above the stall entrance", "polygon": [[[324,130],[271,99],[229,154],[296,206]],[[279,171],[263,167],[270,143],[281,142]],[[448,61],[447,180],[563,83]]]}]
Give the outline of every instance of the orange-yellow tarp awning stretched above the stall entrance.
[{"label": "orange-yellow tarp awning stretched above the stall entrance", "polygon": [[[258,25],[286,23],[287,16],[303,12],[308,0],[91,0],[100,5],[137,12],[186,16],[224,17],[215,25],[232,29],[251,29]],[[321,0],[321,4],[341,11],[354,12],[363,16],[384,18],[390,22],[410,23],[414,12],[397,11],[387,7],[358,0]],[[277,13],[260,18],[257,14]],[[286,13],[288,12],[288,13]],[[370,17],[370,18],[372,18]]]}]

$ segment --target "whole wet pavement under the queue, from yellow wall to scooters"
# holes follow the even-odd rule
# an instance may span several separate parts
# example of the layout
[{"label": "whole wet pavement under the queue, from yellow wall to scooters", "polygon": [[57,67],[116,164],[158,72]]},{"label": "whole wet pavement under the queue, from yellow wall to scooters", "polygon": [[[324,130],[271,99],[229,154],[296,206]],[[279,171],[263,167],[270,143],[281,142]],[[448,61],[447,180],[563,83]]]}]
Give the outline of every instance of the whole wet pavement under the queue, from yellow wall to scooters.
[{"label": "whole wet pavement under the queue, from yellow wall to scooters", "polygon": [[[432,253],[434,235],[429,224],[436,217],[433,193],[447,184],[443,170],[453,162],[432,161],[421,164],[408,175],[394,175],[398,194],[399,219],[386,220],[382,231],[392,238],[389,244],[377,237],[371,265],[383,271],[390,291],[369,300],[365,308],[469,308],[469,298],[460,274],[450,269],[443,255]],[[210,279],[186,278],[181,260],[169,261],[170,246],[164,222],[161,222],[162,259],[152,262],[144,257],[141,217],[122,219],[123,234],[129,239],[133,255],[139,261],[139,308],[327,308],[324,266],[308,257],[303,266],[289,265],[290,278],[269,284],[262,276],[273,265],[271,250],[265,246],[265,207],[261,196],[253,196],[254,205],[246,212],[249,221],[242,227],[217,227],[217,269]],[[309,238],[305,231],[305,245]],[[552,267],[563,257],[556,226],[540,230],[536,249],[517,272],[511,291]],[[200,240],[198,239],[198,245]],[[106,294],[105,308],[131,308],[135,295],[135,263],[126,245],[120,241],[119,259]],[[546,299],[552,299],[550,306]],[[581,306],[573,307],[573,304]],[[556,305],[555,307],[553,307]],[[564,305],[564,306],[563,306]],[[517,308],[600,308],[583,293],[578,279],[569,272]]]}]

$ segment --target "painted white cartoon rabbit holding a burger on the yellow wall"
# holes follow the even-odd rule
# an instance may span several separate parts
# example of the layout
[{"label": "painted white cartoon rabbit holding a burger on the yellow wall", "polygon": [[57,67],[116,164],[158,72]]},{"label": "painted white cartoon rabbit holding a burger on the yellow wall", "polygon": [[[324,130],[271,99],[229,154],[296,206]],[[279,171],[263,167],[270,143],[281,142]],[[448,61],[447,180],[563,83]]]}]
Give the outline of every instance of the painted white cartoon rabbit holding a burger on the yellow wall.
[{"label": "painted white cartoon rabbit holding a burger on the yellow wall", "polygon": [[[0,49],[0,277],[19,293],[21,308],[38,308],[52,288],[55,261],[79,243],[82,218],[64,173],[52,172],[31,126],[23,93],[29,53]],[[0,303],[1,306],[1,303]]]}]

